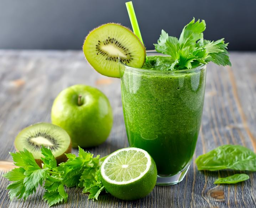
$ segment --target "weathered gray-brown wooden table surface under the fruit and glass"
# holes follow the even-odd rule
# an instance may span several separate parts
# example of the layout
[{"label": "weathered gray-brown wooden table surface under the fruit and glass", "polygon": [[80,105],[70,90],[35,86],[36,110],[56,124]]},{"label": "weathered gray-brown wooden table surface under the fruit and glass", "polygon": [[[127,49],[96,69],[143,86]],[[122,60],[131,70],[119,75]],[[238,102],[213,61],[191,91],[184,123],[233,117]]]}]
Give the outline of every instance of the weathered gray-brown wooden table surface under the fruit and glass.
[{"label": "weathered gray-brown wooden table surface under the fruit and glass", "polygon": [[[222,144],[241,144],[256,151],[256,53],[231,53],[232,67],[207,67],[202,127],[193,162],[182,182],[156,186],[145,198],[122,201],[103,195],[87,200],[81,189],[68,188],[68,201],[57,207],[256,207],[256,174],[237,185],[213,184],[218,177],[234,171],[198,171],[195,158]],[[111,135],[101,146],[88,149],[107,155],[127,147],[119,79],[94,71],[82,51],[0,51],[0,160],[10,161],[13,141],[24,127],[51,122],[53,99],[73,84],[97,87],[109,98],[114,112]],[[77,153],[76,149],[73,152]],[[0,174],[12,168],[1,162]],[[42,189],[27,199],[13,200],[5,190],[8,181],[0,177],[0,207],[48,207]]]}]

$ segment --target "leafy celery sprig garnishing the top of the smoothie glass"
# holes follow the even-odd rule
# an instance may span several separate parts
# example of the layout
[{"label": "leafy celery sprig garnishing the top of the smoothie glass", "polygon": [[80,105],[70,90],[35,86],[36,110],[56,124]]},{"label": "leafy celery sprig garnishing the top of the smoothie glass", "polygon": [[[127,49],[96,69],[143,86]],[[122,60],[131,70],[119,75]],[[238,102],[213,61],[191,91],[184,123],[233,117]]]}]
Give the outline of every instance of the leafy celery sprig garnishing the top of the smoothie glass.
[{"label": "leafy celery sprig garnishing the top of the smoothie glass", "polygon": [[[193,18],[183,28],[179,39],[162,30],[158,43],[154,46],[159,53],[169,55],[171,66],[167,70],[191,69],[210,61],[217,65],[231,66],[224,38],[216,41],[204,40],[205,27],[204,20],[195,22]],[[147,67],[147,62],[144,66],[150,68]]]}]

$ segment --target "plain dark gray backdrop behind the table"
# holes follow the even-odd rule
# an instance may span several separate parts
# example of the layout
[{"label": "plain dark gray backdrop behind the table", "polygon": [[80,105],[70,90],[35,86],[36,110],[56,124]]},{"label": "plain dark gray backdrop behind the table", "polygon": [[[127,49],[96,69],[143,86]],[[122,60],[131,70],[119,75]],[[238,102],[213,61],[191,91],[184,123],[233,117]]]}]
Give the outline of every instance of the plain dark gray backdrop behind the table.
[{"label": "plain dark gray backdrop behind the table", "polygon": [[[81,49],[94,27],[130,26],[125,0],[0,0],[1,49]],[[255,50],[255,0],[134,0],[147,49],[161,29],[179,36],[192,17],[206,21],[205,39],[225,37],[229,50]]]}]

